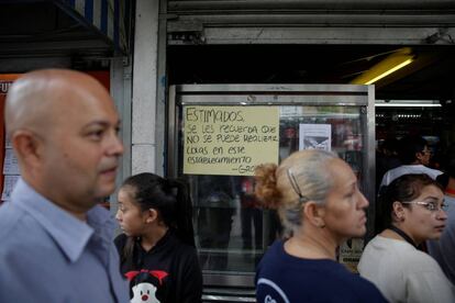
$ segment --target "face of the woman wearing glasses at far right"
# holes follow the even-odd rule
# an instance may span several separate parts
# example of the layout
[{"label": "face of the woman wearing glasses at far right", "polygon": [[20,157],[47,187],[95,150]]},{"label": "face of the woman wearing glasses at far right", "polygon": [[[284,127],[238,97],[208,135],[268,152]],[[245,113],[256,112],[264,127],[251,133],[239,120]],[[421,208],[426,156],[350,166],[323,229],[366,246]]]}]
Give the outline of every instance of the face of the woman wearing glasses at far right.
[{"label": "face of the woman wearing glasses at far right", "polygon": [[444,193],[435,186],[426,186],[418,198],[402,209],[402,224],[417,243],[439,239],[445,227],[446,213],[441,209]]}]

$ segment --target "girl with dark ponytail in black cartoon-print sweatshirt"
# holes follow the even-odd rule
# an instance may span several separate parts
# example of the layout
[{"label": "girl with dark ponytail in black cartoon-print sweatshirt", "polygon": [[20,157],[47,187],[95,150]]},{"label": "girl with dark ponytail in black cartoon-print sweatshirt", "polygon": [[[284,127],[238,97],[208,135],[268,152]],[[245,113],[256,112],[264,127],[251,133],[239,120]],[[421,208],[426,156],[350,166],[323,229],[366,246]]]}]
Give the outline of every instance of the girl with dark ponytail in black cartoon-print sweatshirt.
[{"label": "girl with dark ponytail in black cartoon-print sweatshirt", "polygon": [[124,234],[115,245],[131,302],[200,302],[202,273],[186,184],[144,172],[123,182],[118,200]]}]

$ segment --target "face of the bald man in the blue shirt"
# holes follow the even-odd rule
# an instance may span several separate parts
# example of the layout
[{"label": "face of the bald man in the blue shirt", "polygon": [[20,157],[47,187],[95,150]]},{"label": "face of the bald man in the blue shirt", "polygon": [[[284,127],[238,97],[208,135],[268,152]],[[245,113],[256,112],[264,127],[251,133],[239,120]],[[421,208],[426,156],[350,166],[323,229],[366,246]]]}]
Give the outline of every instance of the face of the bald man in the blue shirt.
[{"label": "face of the bald man in the blue shirt", "polygon": [[120,122],[110,96],[100,87],[64,92],[67,100],[49,109],[52,126],[43,136],[42,178],[55,203],[86,211],[115,189],[123,154]]}]

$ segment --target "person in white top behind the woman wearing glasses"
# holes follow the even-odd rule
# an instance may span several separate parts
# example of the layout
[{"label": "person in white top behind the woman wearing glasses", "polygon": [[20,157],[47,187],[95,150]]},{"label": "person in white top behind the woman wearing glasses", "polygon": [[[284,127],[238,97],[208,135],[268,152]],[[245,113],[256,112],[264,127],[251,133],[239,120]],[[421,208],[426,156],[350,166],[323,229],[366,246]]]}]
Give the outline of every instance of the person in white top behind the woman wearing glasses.
[{"label": "person in white top behind the woman wearing glasses", "polygon": [[400,176],[409,173],[425,173],[433,180],[442,173],[437,169],[429,168],[431,150],[429,149],[428,143],[424,138],[419,136],[407,136],[399,142],[399,157],[402,162],[401,166],[390,169],[387,171],[380,183],[379,194],[381,187],[387,187],[395,179]]}]

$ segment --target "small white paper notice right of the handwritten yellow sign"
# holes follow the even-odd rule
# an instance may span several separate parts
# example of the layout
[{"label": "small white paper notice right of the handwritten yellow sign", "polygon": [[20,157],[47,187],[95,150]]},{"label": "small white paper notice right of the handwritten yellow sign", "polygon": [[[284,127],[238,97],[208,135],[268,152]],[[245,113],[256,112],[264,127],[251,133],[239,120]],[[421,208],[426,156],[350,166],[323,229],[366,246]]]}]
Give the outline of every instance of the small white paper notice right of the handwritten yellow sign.
[{"label": "small white paper notice right of the handwritten yellow sign", "polygon": [[300,124],[299,149],[332,150],[331,124]]}]

